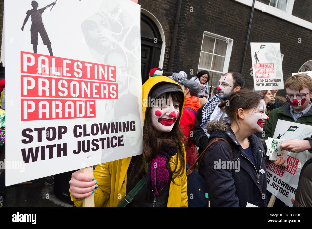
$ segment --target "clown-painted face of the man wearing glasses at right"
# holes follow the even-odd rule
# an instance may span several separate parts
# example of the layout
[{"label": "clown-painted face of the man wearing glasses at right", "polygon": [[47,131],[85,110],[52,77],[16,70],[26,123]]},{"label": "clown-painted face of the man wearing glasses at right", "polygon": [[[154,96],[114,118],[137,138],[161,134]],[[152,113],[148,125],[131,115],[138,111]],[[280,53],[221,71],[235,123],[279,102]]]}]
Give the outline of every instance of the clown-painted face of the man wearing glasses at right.
[{"label": "clown-painted face of the man wearing glasses at right", "polygon": [[310,93],[308,88],[302,90],[293,90],[286,88],[286,94],[288,95],[288,102],[295,110],[301,110],[309,106]]}]

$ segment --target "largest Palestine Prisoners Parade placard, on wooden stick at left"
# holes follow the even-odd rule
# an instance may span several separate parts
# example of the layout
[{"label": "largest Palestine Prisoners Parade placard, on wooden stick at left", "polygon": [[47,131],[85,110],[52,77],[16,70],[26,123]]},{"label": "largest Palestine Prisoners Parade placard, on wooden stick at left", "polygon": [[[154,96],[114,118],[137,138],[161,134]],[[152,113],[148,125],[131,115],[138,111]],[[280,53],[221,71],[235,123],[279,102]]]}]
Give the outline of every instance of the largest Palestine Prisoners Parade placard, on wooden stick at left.
[{"label": "largest Palestine Prisoners Parade placard, on wooden stick at left", "polygon": [[6,185],[141,154],[140,6],[4,8]]}]

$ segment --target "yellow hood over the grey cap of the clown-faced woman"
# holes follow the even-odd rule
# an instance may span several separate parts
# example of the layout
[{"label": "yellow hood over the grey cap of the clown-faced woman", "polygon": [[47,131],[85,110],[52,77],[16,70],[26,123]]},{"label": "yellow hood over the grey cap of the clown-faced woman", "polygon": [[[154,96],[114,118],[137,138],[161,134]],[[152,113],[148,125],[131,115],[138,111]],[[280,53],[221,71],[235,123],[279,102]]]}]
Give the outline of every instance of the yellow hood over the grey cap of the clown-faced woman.
[{"label": "yellow hood over the grey cap of the clown-faced woman", "polygon": [[[145,119],[145,111],[146,111],[146,107],[147,107],[146,105],[148,104],[148,101],[149,101],[148,100],[149,92],[157,83],[161,83],[161,82],[168,82],[168,83],[176,84],[183,91],[180,84],[178,84],[177,82],[168,78],[167,76],[154,76],[154,77],[151,77],[148,80],[146,80],[145,83],[142,85],[143,125],[144,125],[144,119]],[[185,98],[184,98],[184,100],[185,100]],[[183,100],[182,107],[180,108],[180,116],[177,120],[178,123],[180,122],[180,118],[182,117],[182,114],[183,114],[184,100]]]}]

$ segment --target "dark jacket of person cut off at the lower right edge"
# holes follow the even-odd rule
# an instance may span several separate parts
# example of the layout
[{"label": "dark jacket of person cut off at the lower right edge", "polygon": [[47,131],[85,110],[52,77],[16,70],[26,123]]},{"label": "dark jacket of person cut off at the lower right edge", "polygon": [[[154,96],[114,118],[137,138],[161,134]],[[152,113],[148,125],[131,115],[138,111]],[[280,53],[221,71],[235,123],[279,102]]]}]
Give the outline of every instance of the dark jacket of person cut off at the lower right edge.
[{"label": "dark jacket of person cut off at the lower right edge", "polygon": [[293,208],[312,207],[312,158],[303,165]]}]

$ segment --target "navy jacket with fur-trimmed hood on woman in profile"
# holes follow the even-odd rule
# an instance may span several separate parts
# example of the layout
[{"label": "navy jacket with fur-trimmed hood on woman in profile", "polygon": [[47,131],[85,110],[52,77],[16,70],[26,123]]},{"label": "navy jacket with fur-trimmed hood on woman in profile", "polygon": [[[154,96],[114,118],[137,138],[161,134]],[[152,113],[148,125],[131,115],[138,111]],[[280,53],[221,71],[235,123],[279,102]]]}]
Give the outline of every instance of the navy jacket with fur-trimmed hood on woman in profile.
[{"label": "navy jacket with fur-trimmed hood on woman in profile", "polygon": [[[211,121],[207,130],[211,134],[209,142],[217,137],[225,138],[233,151],[232,161],[230,148],[225,141],[213,143],[198,171],[206,179],[211,207],[246,207],[247,202],[267,207],[265,155],[260,139],[254,134],[248,137],[256,164],[254,166],[228,125]],[[232,169],[229,166],[218,167],[220,160],[221,165],[224,161],[239,166],[232,166]]]}]

